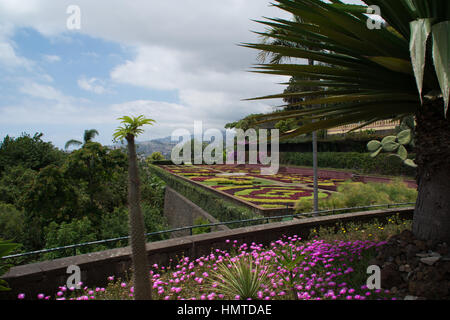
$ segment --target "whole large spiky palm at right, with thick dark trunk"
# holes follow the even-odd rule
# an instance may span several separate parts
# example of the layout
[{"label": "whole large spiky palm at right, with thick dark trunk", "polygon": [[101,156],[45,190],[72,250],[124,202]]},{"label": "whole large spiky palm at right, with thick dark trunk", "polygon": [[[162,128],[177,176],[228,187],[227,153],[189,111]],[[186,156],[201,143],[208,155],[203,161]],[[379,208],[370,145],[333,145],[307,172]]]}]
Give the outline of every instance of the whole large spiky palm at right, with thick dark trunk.
[{"label": "whole large spiky palm at right, with thick dark trunk", "polygon": [[[366,6],[339,0],[276,0],[275,6],[302,17],[259,21],[272,30],[268,37],[303,47],[243,44],[272,54],[312,59],[325,65],[268,63],[255,72],[307,77],[298,80],[323,90],[255,99],[296,97],[290,110],[264,115],[259,123],[291,118],[305,125],[285,132],[290,138],[319,129],[360,122],[416,118],[416,163],[419,196],[413,232],[421,239],[450,241],[450,3],[448,0],[365,0]],[[368,28],[368,6],[380,8],[386,24]],[[307,121],[316,120],[315,122]]]}]

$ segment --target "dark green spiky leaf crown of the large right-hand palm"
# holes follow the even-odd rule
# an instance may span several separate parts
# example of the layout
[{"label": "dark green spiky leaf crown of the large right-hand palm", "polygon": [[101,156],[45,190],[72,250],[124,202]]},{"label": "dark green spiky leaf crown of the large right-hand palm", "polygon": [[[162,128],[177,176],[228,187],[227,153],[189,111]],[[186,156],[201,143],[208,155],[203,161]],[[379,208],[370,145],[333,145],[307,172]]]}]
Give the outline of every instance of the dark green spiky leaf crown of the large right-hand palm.
[{"label": "dark green spiky leaf crown of the large right-hand palm", "polygon": [[[258,21],[272,28],[265,36],[298,43],[298,46],[242,44],[271,54],[312,59],[325,64],[262,64],[253,70],[257,73],[300,77],[311,87],[322,89],[256,98],[296,97],[304,100],[297,106],[309,107],[258,117],[257,123],[292,118],[307,123],[285,132],[282,138],[355,122],[363,126],[414,114],[421,104],[421,95],[417,90],[419,80],[415,76],[417,66],[414,67],[414,60],[411,61],[410,22],[418,18],[430,18],[436,12],[439,12],[441,20],[450,16],[447,1],[367,0],[367,5],[381,8],[382,18],[389,24],[379,30],[369,30],[368,17],[361,13],[367,7],[356,10],[356,7],[350,8],[341,1],[332,2],[277,0],[274,4],[276,7],[300,16],[301,22],[285,19]],[[442,11],[437,11],[439,9]],[[440,52],[443,51],[446,53],[442,49]],[[427,52],[424,60],[432,61],[432,53]],[[423,92],[440,89],[433,68],[424,68],[421,78]]]}]

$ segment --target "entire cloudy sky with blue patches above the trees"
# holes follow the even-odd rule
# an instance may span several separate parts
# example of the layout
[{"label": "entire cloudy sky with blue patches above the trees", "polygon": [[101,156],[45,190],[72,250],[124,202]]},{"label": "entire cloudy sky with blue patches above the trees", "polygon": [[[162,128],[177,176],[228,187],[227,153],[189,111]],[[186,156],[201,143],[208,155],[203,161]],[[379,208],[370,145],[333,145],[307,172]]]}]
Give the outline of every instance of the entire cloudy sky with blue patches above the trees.
[{"label": "entire cloudy sky with blue patches above the trees", "polygon": [[108,145],[123,115],[156,120],[145,141],[271,111],[280,101],[243,101],[288,80],[249,72],[257,52],[238,46],[260,41],[262,17],[289,16],[270,0],[0,0],[0,139],[63,148],[97,129]]}]

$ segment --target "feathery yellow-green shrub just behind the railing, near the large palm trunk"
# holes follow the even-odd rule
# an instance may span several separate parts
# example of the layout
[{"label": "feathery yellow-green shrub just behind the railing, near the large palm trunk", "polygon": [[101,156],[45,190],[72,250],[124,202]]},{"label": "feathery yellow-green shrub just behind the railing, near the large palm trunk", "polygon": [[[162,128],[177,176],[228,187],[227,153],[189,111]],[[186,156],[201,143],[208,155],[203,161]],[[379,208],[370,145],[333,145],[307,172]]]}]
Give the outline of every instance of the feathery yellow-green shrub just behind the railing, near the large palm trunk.
[{"label": "feathery yellow-green shrub just behind the railing, near the large palm trunk", "polygon": [[[320,210],[364,207],[370,205],[409,203],[417,200],[417,191],[408,188],[401,181],[384,183],[346,182],[338,187],[338,192],[319,201]],[[300,199],[296,205],[297,213],[313,211],[312,200]]]}]

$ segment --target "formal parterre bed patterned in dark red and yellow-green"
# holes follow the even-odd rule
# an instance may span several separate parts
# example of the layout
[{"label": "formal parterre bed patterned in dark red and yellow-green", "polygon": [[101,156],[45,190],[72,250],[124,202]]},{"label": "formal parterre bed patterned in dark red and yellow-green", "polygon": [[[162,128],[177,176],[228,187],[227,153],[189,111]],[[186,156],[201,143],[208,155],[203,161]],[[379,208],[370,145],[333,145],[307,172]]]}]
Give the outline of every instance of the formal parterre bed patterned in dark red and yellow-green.
[{"label": "formal parterre bed patterned in dark red and yellow-green", "polygon": [[[295,168],[281,167],[275,175],[262,175],[261,165],[162,165],[160,167],[173,175],[239,199],[258,209],[293,209],[299,200],[314,198],[314,177]],[[390,179],[384,180],[390,181]],[[327,199],[338,191],[340,185],[351,182],[349,173],[320,172],[318,197]]]}]

